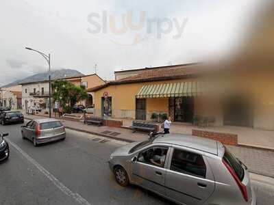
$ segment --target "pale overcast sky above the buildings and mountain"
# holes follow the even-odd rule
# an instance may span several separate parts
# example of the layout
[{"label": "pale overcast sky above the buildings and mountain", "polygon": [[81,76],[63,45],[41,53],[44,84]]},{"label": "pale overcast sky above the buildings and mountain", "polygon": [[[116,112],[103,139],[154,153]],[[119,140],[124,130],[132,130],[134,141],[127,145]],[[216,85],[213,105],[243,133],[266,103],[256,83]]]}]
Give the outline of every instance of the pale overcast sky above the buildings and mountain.
[{"label": "pale overcast sky above the buildings and mountain", "polygon": [[53,69],[112,79],[114,70],[232,52],[258,0],[2,0],[0,86]]}]

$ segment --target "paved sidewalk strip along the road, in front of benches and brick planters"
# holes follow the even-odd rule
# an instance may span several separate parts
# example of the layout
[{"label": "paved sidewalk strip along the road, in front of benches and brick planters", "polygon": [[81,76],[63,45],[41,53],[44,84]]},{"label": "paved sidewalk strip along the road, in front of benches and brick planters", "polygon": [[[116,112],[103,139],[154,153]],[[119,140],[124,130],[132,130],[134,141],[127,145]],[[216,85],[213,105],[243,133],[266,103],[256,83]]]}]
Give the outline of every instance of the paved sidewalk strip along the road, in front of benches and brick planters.
[{"label": "paved sidewalk strip along the road, in front of benches and brick planters", "polygon": [[[38,115],[25,115],[26,119],[44,118]],[[109,126],[86,125],[83,122],[73,122],[60,119],[66,128],[75,131],[82,131],[102,137],[117,139],[120,141],[143,141],[148,139],[147,133],[132,133],[132,130],[126,128],[114,128]],[[274,151],[262,150],[256,148],[246,148],[241,146],[227,146],[236,157],[241,159],[249,168],[250,172],[270,176],[274,178]]]}]

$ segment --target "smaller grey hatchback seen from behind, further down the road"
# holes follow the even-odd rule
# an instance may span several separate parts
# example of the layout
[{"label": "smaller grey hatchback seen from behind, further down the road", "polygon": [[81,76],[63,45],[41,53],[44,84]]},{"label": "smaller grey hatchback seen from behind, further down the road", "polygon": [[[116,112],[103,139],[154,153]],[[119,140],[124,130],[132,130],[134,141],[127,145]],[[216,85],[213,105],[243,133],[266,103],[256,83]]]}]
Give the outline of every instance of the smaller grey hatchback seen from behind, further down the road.
[{"label": "smaller grey hatchback seen from behind, further down the road", "polygon": [[62,122],[52,118],[32,120],[21,128],[22,138],[31,140],[34,146],[66,138],[66,130]]}]

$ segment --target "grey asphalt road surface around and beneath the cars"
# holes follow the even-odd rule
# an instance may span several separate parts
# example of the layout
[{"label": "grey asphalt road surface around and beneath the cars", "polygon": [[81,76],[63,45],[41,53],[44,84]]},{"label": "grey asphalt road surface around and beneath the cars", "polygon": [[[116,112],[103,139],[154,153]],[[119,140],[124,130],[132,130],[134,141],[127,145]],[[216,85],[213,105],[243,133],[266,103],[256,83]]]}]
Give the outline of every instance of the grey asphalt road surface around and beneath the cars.
[{"label": "grey asphalt road surface around and beneath the cars", "polygon": [[[0,163],[0,204],[173,204],[135,186],[116,184],[108,168],[119,141],[67,130],[64,141],[34,147],[21,139],[20,124],[0,126],[10,133],[10,159]],[[272,178],[253,180],[259,205],[274,204]]]}]

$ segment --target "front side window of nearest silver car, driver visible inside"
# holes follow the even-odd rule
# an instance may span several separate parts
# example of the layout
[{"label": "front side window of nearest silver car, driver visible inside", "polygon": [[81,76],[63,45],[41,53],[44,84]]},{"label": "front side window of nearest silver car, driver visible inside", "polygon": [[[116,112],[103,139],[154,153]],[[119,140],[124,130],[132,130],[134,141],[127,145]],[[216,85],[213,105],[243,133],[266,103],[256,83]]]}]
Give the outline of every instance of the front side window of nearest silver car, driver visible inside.
[{"label": "front side window of nearest silver car, driver visible inside", "polygon": [[164,161],[166,161],[166,153],[169,148],[153,147],[140,152],[138,155],[138,161],[157,167],[164,167]]}]

